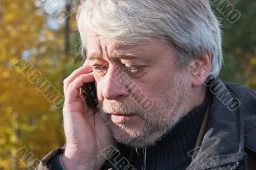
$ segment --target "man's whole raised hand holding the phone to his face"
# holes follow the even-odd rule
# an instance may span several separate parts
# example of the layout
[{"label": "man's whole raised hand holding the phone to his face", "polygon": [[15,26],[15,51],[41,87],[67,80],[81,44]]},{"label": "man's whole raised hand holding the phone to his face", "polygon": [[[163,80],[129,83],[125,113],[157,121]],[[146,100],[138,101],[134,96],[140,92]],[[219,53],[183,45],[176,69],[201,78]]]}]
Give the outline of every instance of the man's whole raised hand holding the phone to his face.
[{"label": "man's whole raised hand holding the phone to his face", "polygon": [[65,169],[100,169],[106,161],[100,151],[115,145],[99,112],[88,107],[80,91],[84,83],[92,81],[92,68],[88,65],[81,66],[64,81],[63,119],[67,146],[61,160]]}]

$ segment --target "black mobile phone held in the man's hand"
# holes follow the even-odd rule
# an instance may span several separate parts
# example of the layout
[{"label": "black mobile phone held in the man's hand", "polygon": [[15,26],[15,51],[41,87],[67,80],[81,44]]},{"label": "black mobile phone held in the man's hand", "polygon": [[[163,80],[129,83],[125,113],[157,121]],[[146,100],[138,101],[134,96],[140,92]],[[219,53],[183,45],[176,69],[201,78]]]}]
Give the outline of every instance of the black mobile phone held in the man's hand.
[{"label": "black mobile phone held in the man's hand", "polygon": [[85,83],[83,87],[81,87],[81,91],[85,98],[86,104],[93,108],[98,105],[95,82]]}]

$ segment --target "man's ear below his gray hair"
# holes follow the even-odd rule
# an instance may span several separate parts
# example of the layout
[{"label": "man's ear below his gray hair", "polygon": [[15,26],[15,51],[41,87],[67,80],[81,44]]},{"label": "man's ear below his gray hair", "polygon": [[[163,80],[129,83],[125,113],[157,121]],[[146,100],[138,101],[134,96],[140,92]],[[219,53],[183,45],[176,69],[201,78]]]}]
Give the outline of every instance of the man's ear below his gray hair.
[{"label": "man's ear below his gray hair", "polygon": [[189,65],[191,72],[191,83],[193,87],[200,87],[211,73],[212,55],[210,51],[202,53],[198,58],[194,58]]}]

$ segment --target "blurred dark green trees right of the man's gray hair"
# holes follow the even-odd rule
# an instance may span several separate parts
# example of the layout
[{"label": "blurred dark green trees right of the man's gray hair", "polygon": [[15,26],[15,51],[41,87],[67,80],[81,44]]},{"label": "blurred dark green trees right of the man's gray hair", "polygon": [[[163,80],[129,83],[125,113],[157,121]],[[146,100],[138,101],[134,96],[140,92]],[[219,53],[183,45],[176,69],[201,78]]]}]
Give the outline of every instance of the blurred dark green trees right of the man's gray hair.
[{"label": "blurred dark green trees right of the man's gray hair", "polygon": [[225,13],[224,15],[221,13],[221,6],[219,9],[218,6],[214,6],[214,11],[221,21],[223,30],[225,65],[221,70],[220,77],[224,81],[236,82],[256,90],[256,1],[223,2],[225,2],[223,6],[227,6],[228,2],[234,5],[234,10],[239,11],[241,17],[237,22],[231,23],[225,17]]}]

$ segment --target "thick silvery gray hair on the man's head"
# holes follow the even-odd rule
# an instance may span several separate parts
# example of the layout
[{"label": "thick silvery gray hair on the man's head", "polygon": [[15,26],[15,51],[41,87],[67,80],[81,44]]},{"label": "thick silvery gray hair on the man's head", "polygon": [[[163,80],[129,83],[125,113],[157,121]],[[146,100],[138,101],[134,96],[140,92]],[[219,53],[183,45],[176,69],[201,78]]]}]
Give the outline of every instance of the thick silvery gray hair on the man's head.
[{"label": "thick silvery gray hair on the man's head", "polygon": [[211,74],[220,73],[221,30],[208,0],[81,0],[77,26],[82,51],[85,27],[125,44],[140,44],[156,37],[170,42],[179,68],[209,51]]}]

